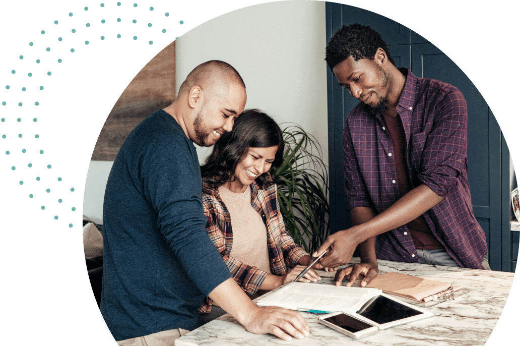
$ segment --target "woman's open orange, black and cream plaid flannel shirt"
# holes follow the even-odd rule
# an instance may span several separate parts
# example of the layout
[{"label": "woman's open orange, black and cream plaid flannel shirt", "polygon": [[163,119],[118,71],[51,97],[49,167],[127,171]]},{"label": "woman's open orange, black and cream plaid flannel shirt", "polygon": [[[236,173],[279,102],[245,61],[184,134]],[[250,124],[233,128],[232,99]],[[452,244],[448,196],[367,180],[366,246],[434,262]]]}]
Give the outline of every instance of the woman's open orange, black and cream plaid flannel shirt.
[{"label": "woman's open orange, black and cream plaid flannel shirt", "polygon": [[[299,264],[299,259],[307,253],[295,244],[286,231],[277,201],[277,185],[270,184],[261,188],[256,182],[253,182],[250,187],[252,207],[261,214],[264,224],[266,224],[271,273],[277,276],[286,275],[287,266],[296,266]],[[206,230],[210,239],[219,250],[222,259],[225,260],[235,281],[246,293],[253,295],[261,287],[267,273],[229,256],[233,242],[230,213],[222,202],[217,189],[208,186],[204,179],[203,207],[204,214],[208,218]],[[206,297],[198,310],[200,314],[212,311],[212,300]]]}]

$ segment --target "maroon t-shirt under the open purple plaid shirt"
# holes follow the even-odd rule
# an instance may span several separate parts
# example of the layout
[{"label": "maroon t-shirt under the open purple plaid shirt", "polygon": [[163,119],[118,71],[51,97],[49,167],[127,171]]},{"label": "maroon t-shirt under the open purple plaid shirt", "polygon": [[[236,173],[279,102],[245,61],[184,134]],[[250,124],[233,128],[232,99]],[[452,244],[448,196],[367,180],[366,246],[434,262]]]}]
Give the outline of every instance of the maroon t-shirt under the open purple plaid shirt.
[{"label": "maroon t-shirt under the open purple plaid shirt", "polygon": [[[412,189],[412,184],[408,180],[408,168],[405,161],[405,131],[400,116],[382,114],[383,122],[386,124],[389,135],[391,136],[394,162],[396,165],[396,174],[398,175],[398,188],[400,190],[400,197],[405,195]],[[414,245],[419,249],[441,249],[443,245],[432,234],[429,226],[423,219],[418,217],[413,221],[407,223],[407,227],[411,232]]]}]

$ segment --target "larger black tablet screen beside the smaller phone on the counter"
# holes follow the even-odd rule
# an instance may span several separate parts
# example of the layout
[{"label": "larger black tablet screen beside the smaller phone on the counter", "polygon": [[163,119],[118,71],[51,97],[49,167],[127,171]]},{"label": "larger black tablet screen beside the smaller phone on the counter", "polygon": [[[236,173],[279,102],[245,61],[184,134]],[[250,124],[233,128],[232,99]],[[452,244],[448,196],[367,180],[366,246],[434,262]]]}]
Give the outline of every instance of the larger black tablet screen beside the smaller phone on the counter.
[{"label": "larger black tablet screen beside the smaller phone on the counter", "polygon": [[378,296],[363,311],[358,311],[358,315],[364,316],[380,325],[421,314],[422,312],[395,302],[383,295]]}]

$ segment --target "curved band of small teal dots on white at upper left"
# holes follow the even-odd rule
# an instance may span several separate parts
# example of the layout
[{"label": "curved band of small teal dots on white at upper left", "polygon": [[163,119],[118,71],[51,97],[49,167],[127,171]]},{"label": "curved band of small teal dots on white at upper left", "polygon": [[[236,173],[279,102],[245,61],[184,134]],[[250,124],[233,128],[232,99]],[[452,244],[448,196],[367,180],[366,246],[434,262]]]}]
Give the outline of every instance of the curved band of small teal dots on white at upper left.
[{"label": "curved band of small teal dots on white at upper left", "polygon": [[[14,174],[11,177],[11,185],[18,186],[24,198],[29,196],[29,199],[36,203],[29,208],[40,208],[47,214],[47,218],[52,218],[57,223],[61,222],[62,226],[68,228],[73,228],[75,222],[70,219],[72,214],[66,216],[63,213],[66,213],[65,210],[72,213],[76,211],[76,207],[67,205],[72,204],[72,200],[64,198],[61,194],[68,190],[68,193],[77,195],[76,187],[64,185],[67,177],[63,173],[63,166],[41,162],[42,159],[50,158],[46,151],[50,152],[51,156],[55,154],[53,148],[47,148],[48,136],[42,134],[42,141],[38,134],[41,125],[49,125],[49,120],[45,118],[46,107],[53,106],[43,102],[46,100],[46,96],[43,95],[58,92],[58,84],[53,84],[53,81],[59,79],[60,69],[75,64],[76,57],[84,54],[85,50],[91,50],[102,42],[110,44],[115,40],[120,40],[118,42],[123,44],[132,44],[135,49],[144,49],[157,44],[154,43],[157,41],[157,35],[164,40],[164,34],[170,28],[184,23],[164,8],[140,6],[137,2],[100,3],[100,7],[93,6],[94,4],[82,4],[75,7],[75,12],[66,11],[65,14],[58,14],[56,18],[47,19],[42,27],[33,32],[33,36],[24,41],[24,48],[13,54],[18,64],[11,64],[6,71],[9,78],[2,80],[5,96],[0,96],[5,97],[0,101],[2,107],[5,107],[5,114],[8,114],[0,119],[1,123],[5,124],[2,128],[5,129],[2,143],[6,149],[3,152],[4,158],[10,160],[0,163]],[[127,26],[130,23],[132,25]],[[157,52],[152,48],[151,53]],[[42,95],[45,100],[35,99],[37,95]],[[41,115],[38,118],[34,117],[34,111],[23,113],[26,109],[30,111],[32,106],[44,107],[39,110],[38,114]],[[12,114],[16,114],[13,112],[15,107],[20,117],[13,117]],[[43,122],[39,121],[40,118]],[[9,129],[14,125],[17,127]],[[33,173],[27,176],[29,171]],[[47,186],[42,186],[42,183]],[[48,199],[48,196],[52,196],[51,199]],[[56,209],[61,205],[65,205],[66,209]]]}]

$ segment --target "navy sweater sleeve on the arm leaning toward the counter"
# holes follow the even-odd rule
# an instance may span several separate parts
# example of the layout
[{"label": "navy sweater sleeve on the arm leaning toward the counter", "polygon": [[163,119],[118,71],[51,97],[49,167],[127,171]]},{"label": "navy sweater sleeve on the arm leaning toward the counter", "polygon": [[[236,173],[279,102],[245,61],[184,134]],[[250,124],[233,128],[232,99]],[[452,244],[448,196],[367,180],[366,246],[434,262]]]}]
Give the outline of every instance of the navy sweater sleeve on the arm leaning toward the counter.
[{"label": "navy sweater sleeve on the arm leaning toward the counter", "polygon": [[156,140],[160,145],[147,148],[140,163],[145,198],[157,213],[157,229],[166,243],[208,295],[231,276],[205,229],[195,148],[182,137]]}]

